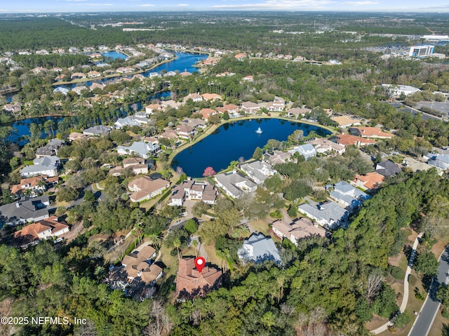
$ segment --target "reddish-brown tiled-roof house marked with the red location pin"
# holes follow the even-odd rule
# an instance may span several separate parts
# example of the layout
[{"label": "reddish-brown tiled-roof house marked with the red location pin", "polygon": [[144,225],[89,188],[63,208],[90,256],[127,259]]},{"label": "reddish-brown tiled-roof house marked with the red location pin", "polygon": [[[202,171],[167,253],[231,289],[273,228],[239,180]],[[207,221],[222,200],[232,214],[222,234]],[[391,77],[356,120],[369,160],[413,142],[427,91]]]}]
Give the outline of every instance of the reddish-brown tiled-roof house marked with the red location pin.
[{"label": "reddish-brown tiled-roof house marked with the red location pin", "polygon": [[223,272],[206,262],[203,270],[196,269],[194,257],[184,257],[179,260],[176,274],[177,300],[189,300],[202,297],[212,290],[222,286]]}]

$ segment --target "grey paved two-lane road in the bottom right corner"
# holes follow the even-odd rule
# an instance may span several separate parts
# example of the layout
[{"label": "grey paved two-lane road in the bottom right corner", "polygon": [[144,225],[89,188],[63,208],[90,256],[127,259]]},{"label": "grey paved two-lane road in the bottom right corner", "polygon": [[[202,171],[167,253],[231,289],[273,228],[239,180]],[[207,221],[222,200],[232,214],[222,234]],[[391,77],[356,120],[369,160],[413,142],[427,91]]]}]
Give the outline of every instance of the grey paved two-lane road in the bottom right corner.
[{"label": "grey paved two-lane road in the bottom right corner", "polygon": [[436,301],[436,290],[440,283],[445,283],[447,274],[449,271],[449,248],[446,248],[440,257],[440,266],[438,267],[438,276],[434,278],[431,283],[431,288],[429,294],[427,295],[426,301],[422,305],[420,314],[418,315],[415,323],[413,323],[412,329],[408,333],[408,336],[426,336],[429,333],[432,323],[436,314],[438,314],[438,309],[440,307],[440,302]]}]

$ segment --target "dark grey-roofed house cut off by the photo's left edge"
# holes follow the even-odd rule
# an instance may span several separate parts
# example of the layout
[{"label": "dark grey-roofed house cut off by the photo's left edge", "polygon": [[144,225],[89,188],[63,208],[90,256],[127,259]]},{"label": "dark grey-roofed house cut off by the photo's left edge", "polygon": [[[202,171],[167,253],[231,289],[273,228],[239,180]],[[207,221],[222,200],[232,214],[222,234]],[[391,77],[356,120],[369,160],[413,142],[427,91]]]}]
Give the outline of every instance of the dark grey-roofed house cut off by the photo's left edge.
[{"label": "dark grey-roofed house cut off by the photo's left edge", "polygon": [[26,222],[37,222],[49,217],[47,206],[50,206],[48,196],[34,199],[25,197],[14,203],[0,206],[0,227],[3,225],[18,225]]}]

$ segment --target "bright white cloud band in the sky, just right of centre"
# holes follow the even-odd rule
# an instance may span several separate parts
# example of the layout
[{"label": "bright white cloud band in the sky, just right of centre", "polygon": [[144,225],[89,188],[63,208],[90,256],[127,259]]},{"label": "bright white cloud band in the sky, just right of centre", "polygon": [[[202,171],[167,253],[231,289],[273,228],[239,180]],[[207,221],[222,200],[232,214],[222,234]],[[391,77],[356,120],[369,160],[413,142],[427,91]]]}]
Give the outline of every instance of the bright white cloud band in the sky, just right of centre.
[{"label": "bright white cloud band in the sky, just right of centre", "polygon": [[267,9],[267,10],[295,10],[304,8],[326,8],[329,4],[335,4],[331,0],[267,0],[256,4],[240,5],[215,5],[212,8],[222,9]]}]

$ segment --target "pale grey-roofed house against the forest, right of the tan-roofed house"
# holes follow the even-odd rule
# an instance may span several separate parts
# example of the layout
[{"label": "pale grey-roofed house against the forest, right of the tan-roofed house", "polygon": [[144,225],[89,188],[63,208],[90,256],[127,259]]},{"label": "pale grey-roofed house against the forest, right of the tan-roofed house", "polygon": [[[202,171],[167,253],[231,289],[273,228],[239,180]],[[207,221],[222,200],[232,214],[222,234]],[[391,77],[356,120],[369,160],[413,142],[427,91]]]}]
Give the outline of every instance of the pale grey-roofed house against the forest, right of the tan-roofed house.
[{"label": "pale grey-roofed house against the forest, right of the tan-roofed house", "polygon": [[332,229],[343,224],[349,215],[347,210],[344,210],[344,208],[341,208],[333,201],[321,203],[309,201],[309,203],[302,203],[297,209],[300,213],[323,225],[323,227]]}]

